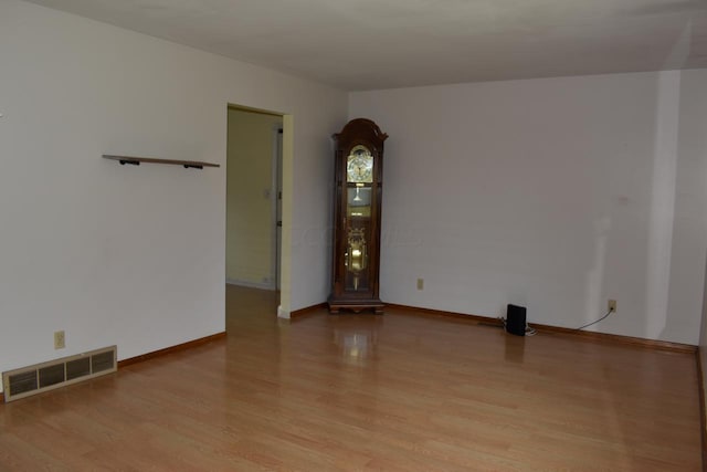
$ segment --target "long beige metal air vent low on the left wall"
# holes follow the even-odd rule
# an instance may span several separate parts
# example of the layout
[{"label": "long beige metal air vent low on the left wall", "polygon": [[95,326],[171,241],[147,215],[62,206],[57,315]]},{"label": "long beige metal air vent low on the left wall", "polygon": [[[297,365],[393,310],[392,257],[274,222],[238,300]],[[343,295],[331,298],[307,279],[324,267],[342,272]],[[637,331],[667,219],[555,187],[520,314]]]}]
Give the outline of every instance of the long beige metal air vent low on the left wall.
[{"label": "long beige metal air vent low on the left wall", "polygon": [[117,369],[117,347],[110,346],[2,374],[4,401],[76,384]]}]

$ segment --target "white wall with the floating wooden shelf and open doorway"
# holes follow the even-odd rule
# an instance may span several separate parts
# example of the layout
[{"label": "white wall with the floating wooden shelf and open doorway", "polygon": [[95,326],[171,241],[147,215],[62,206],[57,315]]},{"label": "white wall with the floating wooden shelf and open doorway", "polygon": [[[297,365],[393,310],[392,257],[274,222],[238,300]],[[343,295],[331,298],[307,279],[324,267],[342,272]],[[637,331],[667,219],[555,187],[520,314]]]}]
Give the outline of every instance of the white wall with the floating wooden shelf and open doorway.
[{"label": "white wall with the floating wooden shelf and open doorway", "polygon": [[[14,0],[0,0],[0,371],[224,329],[229,103],[293,114],[293,233],[329,224],[340,91]],[[297,244],[289,275],[307,284],[286,311],[328,292],[327,244]]]}]

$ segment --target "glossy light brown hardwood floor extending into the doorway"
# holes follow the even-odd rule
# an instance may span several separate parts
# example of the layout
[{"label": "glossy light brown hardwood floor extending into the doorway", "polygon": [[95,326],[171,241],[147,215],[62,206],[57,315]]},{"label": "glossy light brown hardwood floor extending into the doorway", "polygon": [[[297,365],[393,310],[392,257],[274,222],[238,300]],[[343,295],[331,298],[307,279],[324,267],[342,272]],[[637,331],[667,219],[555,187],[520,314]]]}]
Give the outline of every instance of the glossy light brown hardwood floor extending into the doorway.
[{"label": "glossy light brown hardwood floor extending into the doorway", "polygon": [[278,321],[0,406],[0,471],[698,471],[695,356],[391,310]]}]

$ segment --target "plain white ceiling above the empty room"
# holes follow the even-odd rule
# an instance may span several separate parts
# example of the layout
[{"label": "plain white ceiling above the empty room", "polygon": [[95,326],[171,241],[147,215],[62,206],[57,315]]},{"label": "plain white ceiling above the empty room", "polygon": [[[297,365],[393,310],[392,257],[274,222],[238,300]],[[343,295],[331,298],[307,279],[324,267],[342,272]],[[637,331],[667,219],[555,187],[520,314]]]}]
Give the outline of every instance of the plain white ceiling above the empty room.
[{"label": "plain white ceiling above the empty room", "polygon": [[31,0],[348,91],[707,67],[707,0]]}]

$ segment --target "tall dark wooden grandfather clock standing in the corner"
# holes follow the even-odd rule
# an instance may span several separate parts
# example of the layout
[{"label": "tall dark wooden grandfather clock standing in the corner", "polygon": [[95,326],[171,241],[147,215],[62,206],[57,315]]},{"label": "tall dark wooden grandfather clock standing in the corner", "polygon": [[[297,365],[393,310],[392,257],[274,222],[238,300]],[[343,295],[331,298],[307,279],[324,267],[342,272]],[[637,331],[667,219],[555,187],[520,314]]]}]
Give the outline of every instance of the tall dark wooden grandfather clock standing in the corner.
[{"label": "tall dark wooden grandfather clock standing in the corner", "polygon": [[370,119],[351,119],[335,134],[334,256],[329,312],[383,313],[380,269],[380,207],[383,195],[383,141]]}]

